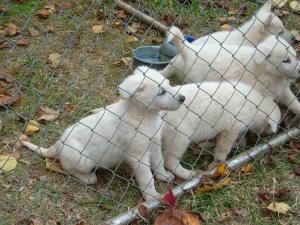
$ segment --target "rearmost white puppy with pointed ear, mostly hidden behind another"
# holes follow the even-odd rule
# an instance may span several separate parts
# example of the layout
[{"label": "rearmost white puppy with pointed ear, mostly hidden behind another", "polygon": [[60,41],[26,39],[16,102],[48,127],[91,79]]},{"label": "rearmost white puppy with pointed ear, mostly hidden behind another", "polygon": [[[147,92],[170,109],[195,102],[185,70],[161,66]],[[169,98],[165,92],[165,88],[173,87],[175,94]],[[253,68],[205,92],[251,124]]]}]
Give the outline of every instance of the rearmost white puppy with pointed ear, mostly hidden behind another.
[{"label": "rearmost white puppy with pointed ear, mostly hidden behind another", "polygon": [[[281,20],[271,12],[271,0],[267,0],[263,7],[241,27],[233,31],[219,31],[206,35],[192,44],[197,45],[198,49],[206,48],[206,45],[209,45],[212,51],[214,50],[210,45],[255,46],[269,35],[280,33],[288,34]],[[216,55],[218,54],[218,51],[214,52]],[[162,70],[162,74],[166,77],[173,74],[178,75],[183,72],[183,65],[182,56],[179,54]]]}]

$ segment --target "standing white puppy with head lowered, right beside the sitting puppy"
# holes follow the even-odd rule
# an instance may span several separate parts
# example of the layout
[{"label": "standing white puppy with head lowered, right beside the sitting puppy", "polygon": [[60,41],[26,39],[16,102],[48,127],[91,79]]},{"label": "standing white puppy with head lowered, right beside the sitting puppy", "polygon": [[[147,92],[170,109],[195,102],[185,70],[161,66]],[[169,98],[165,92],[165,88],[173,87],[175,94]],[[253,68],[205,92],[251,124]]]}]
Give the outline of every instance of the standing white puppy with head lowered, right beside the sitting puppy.
[{"label": "standing white puppy with head lowered, right beside the sitting puppy", "polygon": [[243,83],[203,82],[179,86],[184,106],[166,112],[162,128],[165,166],[178,177],[195,175],[180,165],[191,142],[199,143],[217,136],[215,160],[224,162],[232,144],[248,129],[271,134],[280,123],[280,110],[271,97]]}]

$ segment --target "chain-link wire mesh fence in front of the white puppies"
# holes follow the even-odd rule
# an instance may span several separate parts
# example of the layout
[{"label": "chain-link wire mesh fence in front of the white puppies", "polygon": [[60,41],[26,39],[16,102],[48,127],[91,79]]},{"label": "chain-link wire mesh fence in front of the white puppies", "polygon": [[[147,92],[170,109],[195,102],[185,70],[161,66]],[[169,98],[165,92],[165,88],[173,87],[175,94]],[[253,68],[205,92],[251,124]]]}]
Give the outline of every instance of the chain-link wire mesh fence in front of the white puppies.
[{"label": "chain-link wire mesh fence in front of the white puppies", "polygon": [[[119,3],[1,2],[1,224],[103,224],[140,204],[143,195],[158,197],[170,185],[190,180],[192,171],[205,171],[297,124],[296,8],[278,3],[271,13],[270,2],[126,1],[163,24],[157,26]],[[263,7],[266,11],[255,13]],[[167,67],[157,61],[150,68],[134,66],[133,49],[163,43],[175,48],[164,42],[164,26],[209,39],[190,44],[173,28],[169,37],[174,35],[180,54]],[[215,36],[220,29],[228,31]],[[157,65],[159,74],[151,69]],[[45,154],[40,147],[31,147],[34,152],[22,146],[20,136],[28,140],[24,134],[38,146],[56,143],[60,163],[40,157]],[[276,149],[290,154],[296,143]],[[273,157],[255,163],[261,168],[277,160],[277,167],[290,169],[286,160]],[[192,195],[180,204],[205,214],[203,198]],[[241,202],[220,204],[234,201]],[[299,209],[297,200],[290,204]],[[159,210],[137,223],[153,224]],[[218,224],[219,213],[205,214],[207,221]],[[261,224],[254,217],[246,222]]]}]

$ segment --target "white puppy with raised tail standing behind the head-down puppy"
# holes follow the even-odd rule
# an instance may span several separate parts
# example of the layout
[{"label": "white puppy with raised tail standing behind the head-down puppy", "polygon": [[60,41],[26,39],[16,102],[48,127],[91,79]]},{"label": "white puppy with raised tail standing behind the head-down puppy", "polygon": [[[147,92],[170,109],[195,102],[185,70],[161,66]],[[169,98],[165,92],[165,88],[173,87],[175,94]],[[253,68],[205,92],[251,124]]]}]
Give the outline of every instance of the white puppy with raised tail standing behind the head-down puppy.
[{"label": "white puppy with raised tail standing behind the head-down puppy", "polygon": [[186,82],[240,80],[263,95],[290,107],[300,115],[300,103],[290,89],[290,81],[300,76],[300,62],[293,47],[281,37],[270,35],[256,47],[205,45],[201,48],[184,40],[177,27],[169,38],[181,51],[182,77]]}]

